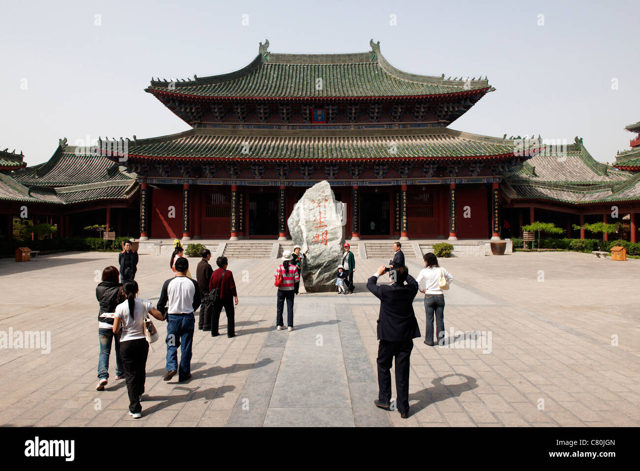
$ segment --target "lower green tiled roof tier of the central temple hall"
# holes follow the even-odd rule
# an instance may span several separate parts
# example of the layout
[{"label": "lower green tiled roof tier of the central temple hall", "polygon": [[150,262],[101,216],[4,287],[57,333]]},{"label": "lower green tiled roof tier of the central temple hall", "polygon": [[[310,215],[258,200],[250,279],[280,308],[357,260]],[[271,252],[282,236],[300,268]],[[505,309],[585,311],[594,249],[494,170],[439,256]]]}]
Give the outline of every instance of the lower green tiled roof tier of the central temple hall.
[{"label": "lower green tiled roof tier of the central temple hall", "polygon": [[[260,131],[189,129],[184,133],[129,143],[131,157],[237,159],[401,159],[472,158],[513,153],[513,142],[462,133],[448,128],[410,129],[387,133],[306,132],[275,135]],[[243,152],[244,151],[244,152]]]}]

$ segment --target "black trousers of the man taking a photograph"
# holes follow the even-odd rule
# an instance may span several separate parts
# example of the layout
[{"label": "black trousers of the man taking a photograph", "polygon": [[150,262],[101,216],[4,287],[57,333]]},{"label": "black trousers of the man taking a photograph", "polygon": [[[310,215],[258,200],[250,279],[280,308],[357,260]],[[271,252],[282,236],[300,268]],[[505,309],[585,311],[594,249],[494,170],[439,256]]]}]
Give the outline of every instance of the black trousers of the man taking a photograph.
[{"label": "black trousers of the man taking a photograph", "polygon": [[396,358],[397,409],[401,413],[409,411],[409,357],[413,340],[389,342],[380,340],[378,345],[378,399],[388,404],[391,401],[391,363]]}]

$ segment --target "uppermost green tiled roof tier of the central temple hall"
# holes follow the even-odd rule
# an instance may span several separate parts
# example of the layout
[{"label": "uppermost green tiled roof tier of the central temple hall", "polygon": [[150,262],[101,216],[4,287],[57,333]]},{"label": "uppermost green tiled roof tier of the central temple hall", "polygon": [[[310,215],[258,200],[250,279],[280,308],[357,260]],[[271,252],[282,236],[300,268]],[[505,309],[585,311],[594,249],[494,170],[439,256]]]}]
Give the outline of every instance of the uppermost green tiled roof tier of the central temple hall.
[{"label": "uppermost green tiled roof tier of the central temple hall", "polygon": [[[189,81],[153,80],[145,90],[157,97],[180,95],[193,99],[343,99],[434,97],[485,94],[487,79],[458,79],[410,74],[390,65],[380,53],[380,42],[371,51],[353,54],[275,54],[269,41],[260,43],[259,54],[236,72]],[[321,87],[317,79],[322,79]]]}]

